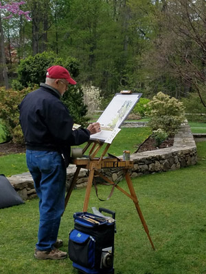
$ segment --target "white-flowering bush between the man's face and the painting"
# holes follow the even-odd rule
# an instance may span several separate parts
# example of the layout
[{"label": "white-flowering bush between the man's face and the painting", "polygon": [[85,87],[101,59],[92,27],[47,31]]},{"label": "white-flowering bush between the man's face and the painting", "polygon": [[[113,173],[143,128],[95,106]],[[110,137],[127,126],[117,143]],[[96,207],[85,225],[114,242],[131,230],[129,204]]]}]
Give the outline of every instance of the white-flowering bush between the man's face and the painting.
[{"label": "white-flowering bush between the man's face and the painting", "polygon": [[101,90],[90,84],[89,86],[82,86],[84,92],[84,104],[88,107],[88,114],[93,114],[95,110],[100,110],[100,104],[103,97],[101,97]]}]

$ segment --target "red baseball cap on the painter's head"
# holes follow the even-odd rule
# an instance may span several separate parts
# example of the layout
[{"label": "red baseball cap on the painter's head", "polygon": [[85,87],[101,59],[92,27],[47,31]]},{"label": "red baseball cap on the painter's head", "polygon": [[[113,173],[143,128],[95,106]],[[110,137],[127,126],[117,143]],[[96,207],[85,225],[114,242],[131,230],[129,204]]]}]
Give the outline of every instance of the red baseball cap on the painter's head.
[{"label": "red baseball cap on the painter's head", "polygon": [[76,85],[76,81],[71,78],[69,71],[63,66],[50,66],[50,68],[47,69],[47,77],[53,79],[66,79],[69,84]]}]

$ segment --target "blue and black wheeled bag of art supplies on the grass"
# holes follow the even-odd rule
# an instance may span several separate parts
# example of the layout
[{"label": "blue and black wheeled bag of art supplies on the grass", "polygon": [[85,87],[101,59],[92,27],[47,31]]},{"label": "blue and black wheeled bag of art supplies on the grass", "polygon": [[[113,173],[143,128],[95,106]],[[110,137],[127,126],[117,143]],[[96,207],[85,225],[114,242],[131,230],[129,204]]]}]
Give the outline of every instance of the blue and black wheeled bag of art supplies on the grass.
[{"label": "blue and black wheeled bag of art supplies on the grass", "polygon": [[73,218],[68,251],[73,267],[80,273],[114,273],[115,220],[88,212],[76,212]]}]

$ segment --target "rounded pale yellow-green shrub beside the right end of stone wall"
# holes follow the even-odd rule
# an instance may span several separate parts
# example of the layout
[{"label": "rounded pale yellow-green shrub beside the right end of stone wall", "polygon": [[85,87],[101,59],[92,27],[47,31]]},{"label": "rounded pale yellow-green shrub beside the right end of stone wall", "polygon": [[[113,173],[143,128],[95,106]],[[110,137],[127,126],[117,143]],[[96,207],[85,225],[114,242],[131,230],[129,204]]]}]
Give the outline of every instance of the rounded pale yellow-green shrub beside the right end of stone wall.
[{"label": "rounded pale yellow-green shrub beside the right end of stone wall", "polygon": [[163,92],[158,92],[152,101],[148,103],[148,107],[150,108],[149,126],[152,131],[163,129],[170,136],[176,133],[185,120],[183,103],[174,97],[170,98],[169,95],[165,95]]}]

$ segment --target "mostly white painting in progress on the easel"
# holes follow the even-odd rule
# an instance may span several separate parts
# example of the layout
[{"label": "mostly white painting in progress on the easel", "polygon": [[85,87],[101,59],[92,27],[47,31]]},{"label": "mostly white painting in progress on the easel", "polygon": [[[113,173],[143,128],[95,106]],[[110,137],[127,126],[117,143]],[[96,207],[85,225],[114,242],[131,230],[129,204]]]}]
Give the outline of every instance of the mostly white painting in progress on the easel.
[{"label": "mostly white painting in progress on the easel", "polygon": [[141,95],[141,93],[117,93],[97,121],[101,125],[101,132],[92,134],[90,140],[111,144],[121,130],[119,127],[133,110]]}]

